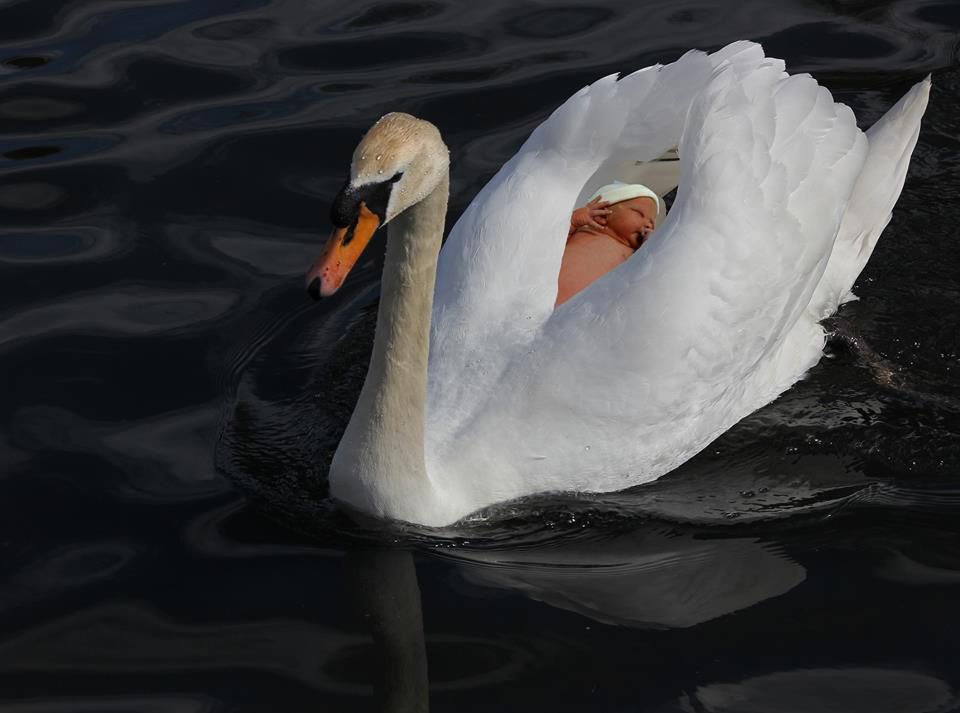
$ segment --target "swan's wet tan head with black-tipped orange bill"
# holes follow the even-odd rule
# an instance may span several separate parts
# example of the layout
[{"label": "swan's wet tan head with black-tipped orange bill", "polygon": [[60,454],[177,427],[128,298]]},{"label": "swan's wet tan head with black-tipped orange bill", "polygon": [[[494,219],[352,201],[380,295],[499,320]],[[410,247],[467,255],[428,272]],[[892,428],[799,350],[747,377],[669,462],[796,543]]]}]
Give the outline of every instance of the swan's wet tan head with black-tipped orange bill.
[{"label": "swan's wet tan head with black-tipped orange bill", "polygon": [[450,154],[433,124],[410,114],[383,116],[353,152],[350,178],[333,199],[334,230],[307,273],[314,298],[340,289],[374,231],[426,198],[447,175]]}]

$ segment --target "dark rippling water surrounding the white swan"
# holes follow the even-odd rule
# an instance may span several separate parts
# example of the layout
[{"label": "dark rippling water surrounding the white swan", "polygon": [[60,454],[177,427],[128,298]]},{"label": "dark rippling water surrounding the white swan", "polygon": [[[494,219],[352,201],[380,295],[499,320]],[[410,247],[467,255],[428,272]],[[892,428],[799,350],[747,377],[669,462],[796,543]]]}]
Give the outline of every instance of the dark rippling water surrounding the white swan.
[{"label": "dark rippling water surrounding the white swan", "polygon": [[[302,274],[353,146],[452,215],[562,99],[762,40],[864,126],[934,76],[832,358],[650,488],[445,533],[324,459],[381,242]],[[960,709],[960,6],[0,2],[0,713]]]}]

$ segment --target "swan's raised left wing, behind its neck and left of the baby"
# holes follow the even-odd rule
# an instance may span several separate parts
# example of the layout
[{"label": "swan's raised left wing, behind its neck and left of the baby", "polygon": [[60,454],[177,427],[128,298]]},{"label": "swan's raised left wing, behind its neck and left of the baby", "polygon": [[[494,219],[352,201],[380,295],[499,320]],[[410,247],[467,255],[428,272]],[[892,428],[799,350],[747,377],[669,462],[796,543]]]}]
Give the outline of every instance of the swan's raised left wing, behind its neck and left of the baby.
[{"label": "swan's raised left wing, behind its neck and left of the baby", "polygon": [[611,158],[651,161],[675,147],[714,67],[763,59],[759,45],[737,42],[605,77],[556,109],[477,195],[439,258],[428,394],[434,444],[475,414],[551,318],[570,212],[579,194],[607,182],[600,169]]}]

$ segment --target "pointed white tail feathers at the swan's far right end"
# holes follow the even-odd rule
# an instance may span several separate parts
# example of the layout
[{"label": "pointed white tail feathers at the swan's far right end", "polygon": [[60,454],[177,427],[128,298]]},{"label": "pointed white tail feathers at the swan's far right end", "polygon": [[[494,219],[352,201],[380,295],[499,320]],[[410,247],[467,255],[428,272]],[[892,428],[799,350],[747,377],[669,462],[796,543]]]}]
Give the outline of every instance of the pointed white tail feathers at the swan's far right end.
[{"label": "pointed white tail feathers at the swan's far right end", "polygon": [[880,233],[890,222],[893,206],[903,190],[930,87],[928,76],[867,131],[867,160],[837,231],[826,270],[810,302],[809,312],[815,319],[828,317],[841,304],[854,299],[853,283],[870,259]]}]

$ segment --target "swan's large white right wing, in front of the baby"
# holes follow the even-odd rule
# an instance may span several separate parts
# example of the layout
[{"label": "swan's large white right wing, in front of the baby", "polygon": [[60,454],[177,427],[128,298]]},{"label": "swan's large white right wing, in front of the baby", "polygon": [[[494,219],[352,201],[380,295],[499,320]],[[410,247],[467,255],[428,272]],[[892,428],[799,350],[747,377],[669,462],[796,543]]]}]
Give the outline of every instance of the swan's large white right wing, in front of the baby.
[{"label": "swan's large white right wing, in front of the baby", "polygon": [[801,317],[867,154],[853,113],[761,55],[719,63],[685,117],[663,226],[543,322],[441,455],[477,502],[653,480],[816,361]]}]

